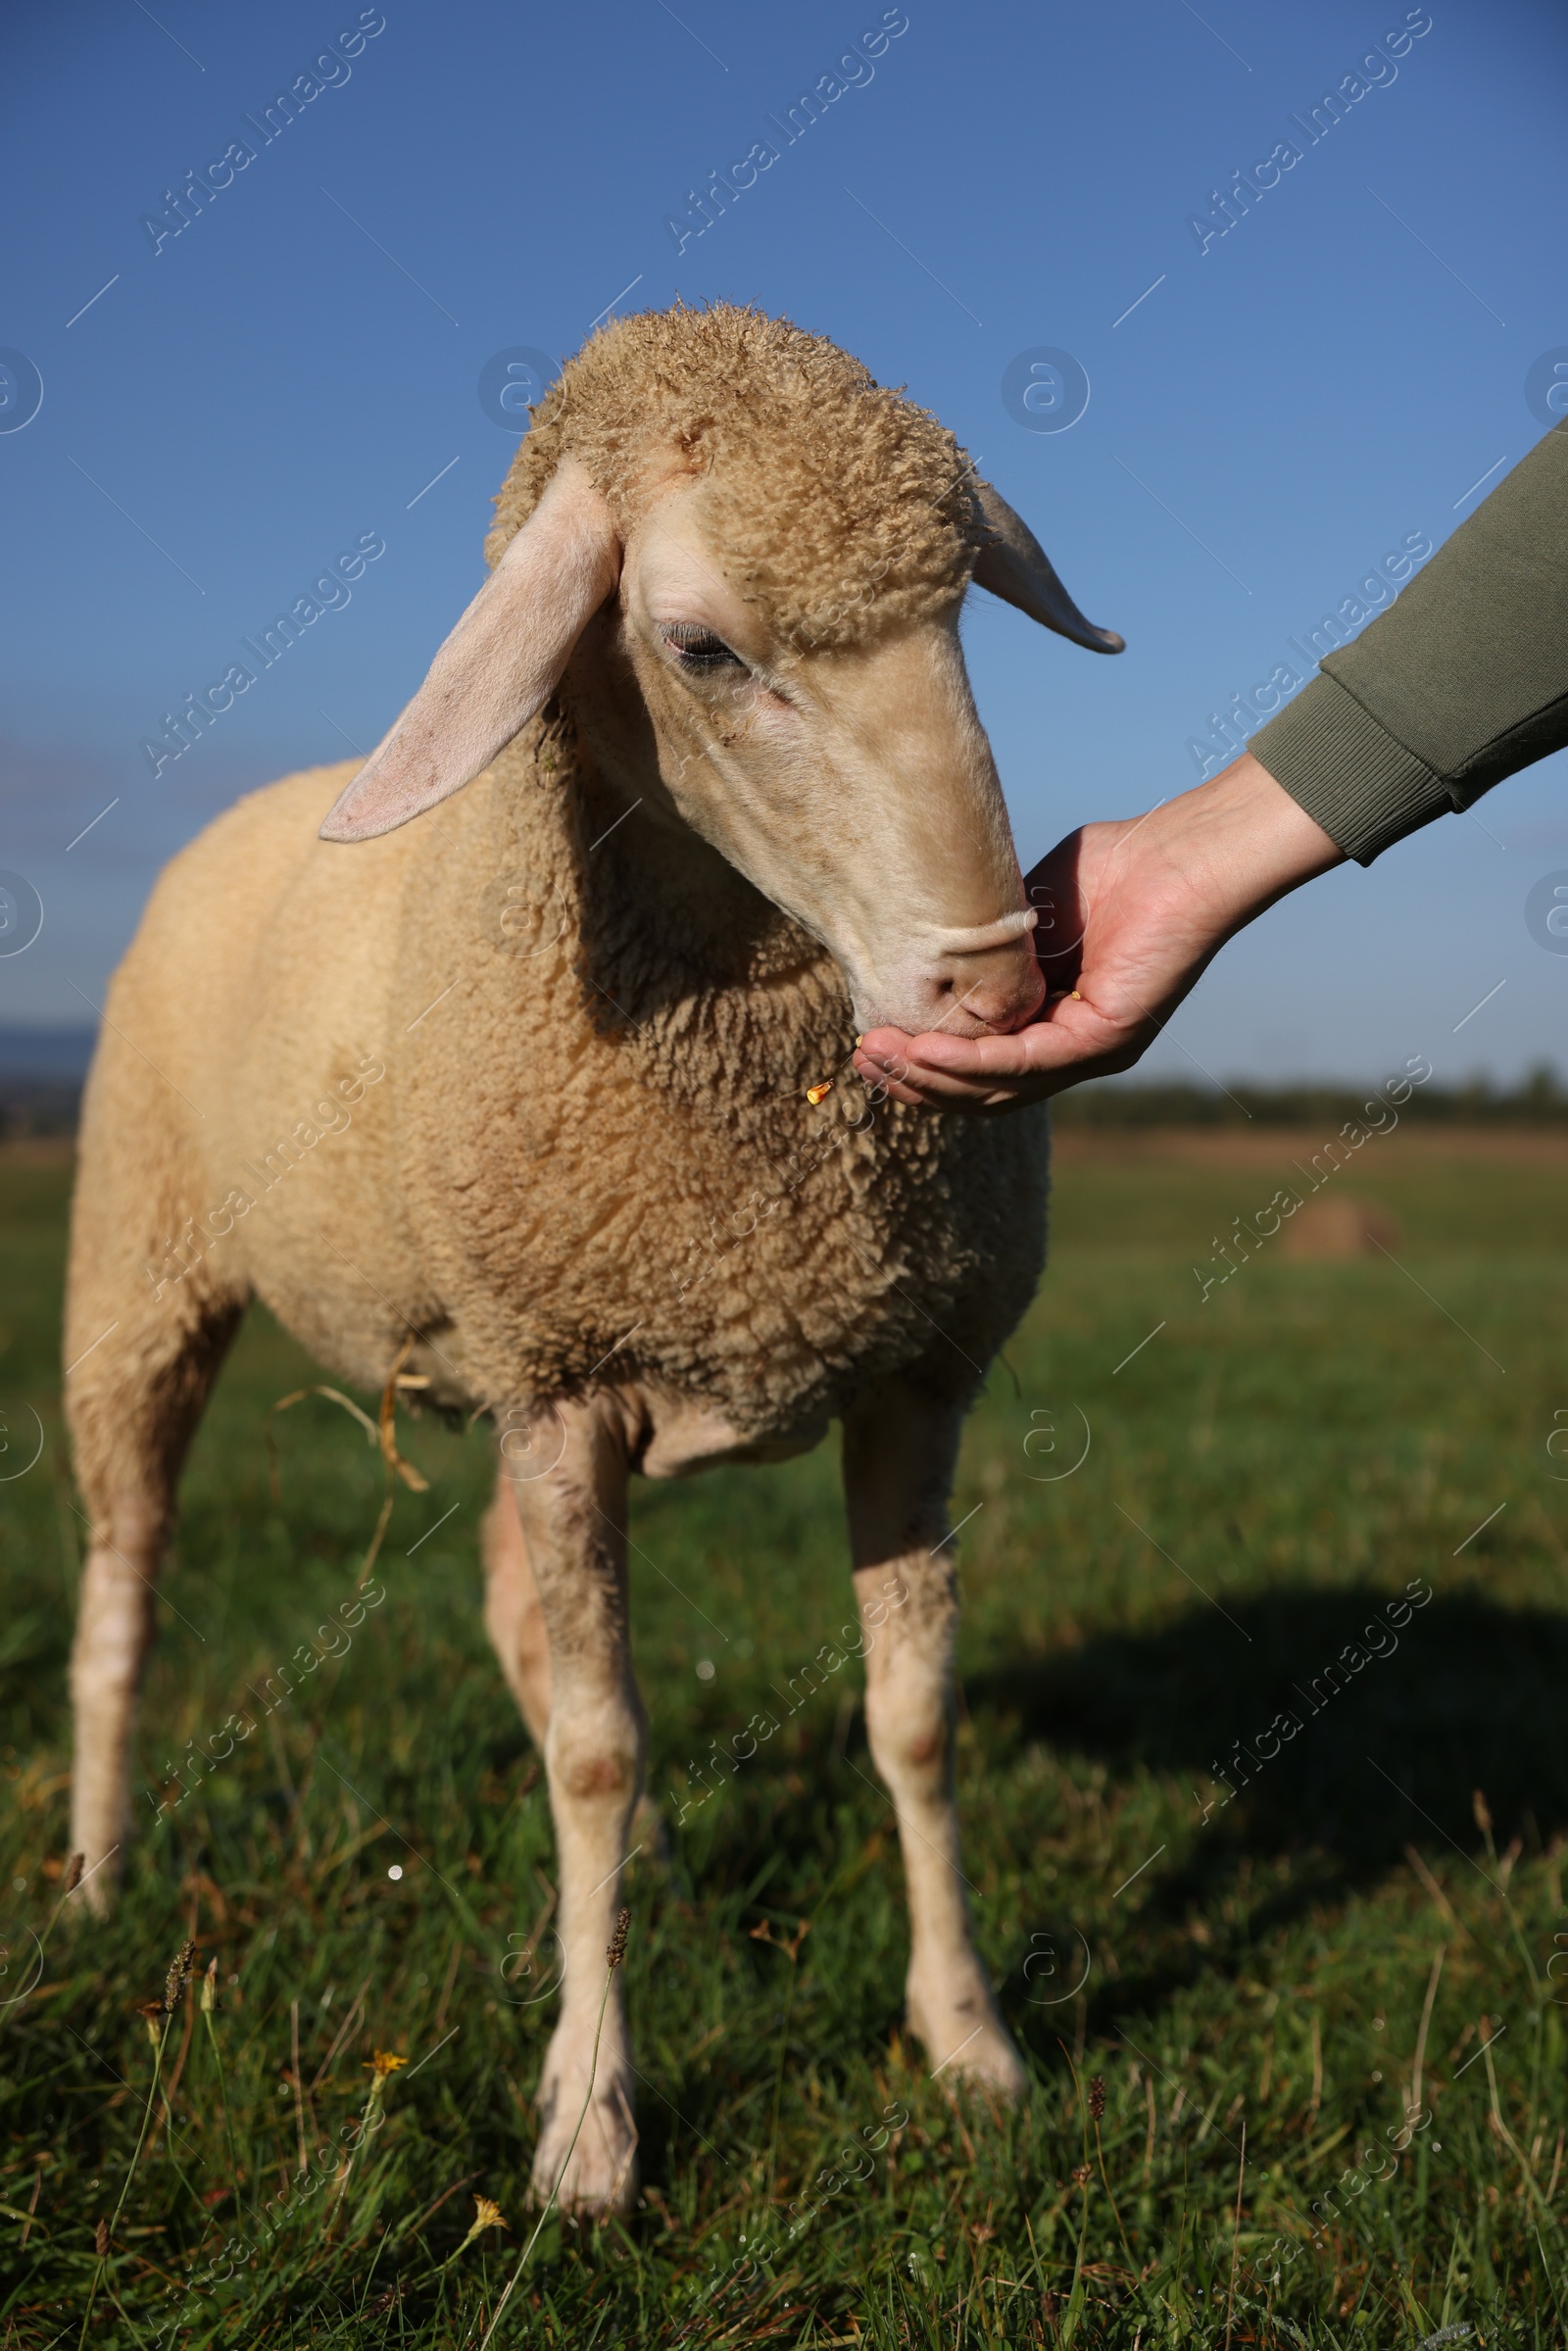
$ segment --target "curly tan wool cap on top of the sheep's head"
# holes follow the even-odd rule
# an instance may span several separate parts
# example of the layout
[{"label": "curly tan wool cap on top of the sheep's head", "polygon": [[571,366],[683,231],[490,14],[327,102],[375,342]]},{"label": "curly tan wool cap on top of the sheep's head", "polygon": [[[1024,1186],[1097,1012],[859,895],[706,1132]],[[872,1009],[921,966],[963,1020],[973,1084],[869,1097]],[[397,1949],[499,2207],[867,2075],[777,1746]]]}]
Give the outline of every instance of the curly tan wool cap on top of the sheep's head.
[{"label": "curly tan wool cap on top of the sheep's head", "polygon": [[973,465],[926,409],[823,336],[715,303],[614,320],[567,362],[496,498],[487,560],[564,454],[630,531],[670,449],[705,482],[703,527],[733,585],[802,647],[936,618],[985,543]]}]

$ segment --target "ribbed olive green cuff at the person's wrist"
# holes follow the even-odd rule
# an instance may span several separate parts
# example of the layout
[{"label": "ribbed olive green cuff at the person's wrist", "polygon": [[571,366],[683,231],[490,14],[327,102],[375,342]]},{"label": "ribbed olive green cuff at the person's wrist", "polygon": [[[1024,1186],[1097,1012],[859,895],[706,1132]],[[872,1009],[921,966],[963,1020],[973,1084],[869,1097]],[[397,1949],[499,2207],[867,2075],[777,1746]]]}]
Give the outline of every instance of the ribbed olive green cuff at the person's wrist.
[{"label": "ribbed olive green cuff at the person's wrist", "polygon": [[1246,748],[1356,865],[1453,811],[1441,776],[1324,672]]}]

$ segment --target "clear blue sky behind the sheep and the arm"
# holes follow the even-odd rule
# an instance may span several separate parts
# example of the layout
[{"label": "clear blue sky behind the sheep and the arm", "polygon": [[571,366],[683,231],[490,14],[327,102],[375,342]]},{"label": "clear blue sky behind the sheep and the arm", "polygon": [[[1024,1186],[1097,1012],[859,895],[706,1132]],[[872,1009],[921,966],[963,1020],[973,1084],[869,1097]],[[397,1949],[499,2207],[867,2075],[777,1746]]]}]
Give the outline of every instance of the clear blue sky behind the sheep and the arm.
[{"label": "clear blue sky behind the sheep and the arm", "polygon": [[[89,1020],[183,839],[376,741],[482,576],[515,447],[480,402],[487,362],[567,355],[616,301],[755,301],[830,334],[952,426],[1126,635],[1100,661],[973,597],[1025,865],[1197,781],[1208,715],[1408,534],[1441,543],[1544,430],[1526,376],[1568,357],[1559,5],[903,14],[792,146],[766,118],[884,21],[875,0],[386,0],[268,143],[244,118],[362,26],[357,0],[12,24],[0,108],[28,228],[0,308],[24,367],[0,393],[21,414],[31,367],[42,407],[0,433],[0,870],[45,926],[0,957],[0,1025]],[[1291,118],[1408,14],[1429,28],[1307,146]],[[778,162],[677,254],[665,219],[762,139]],[[1267,179],[1286,139],[1300,162],[1199,249],[1190,216],[1239,169]],[[165,190],[233,141],[254,160],[153,249],[143,216],[169,221]],[[1088,381],[1067,430],[1004,402],[1039,350]],[[153,778],[141,738],[367,534],[386,552],[350,602]],[[1559,755],[1483,823],[1314,884],[1225,952],[1145,1067],[1568,1063],[1568,957],[1523,922],[1568,870],[1566,788]]]}]

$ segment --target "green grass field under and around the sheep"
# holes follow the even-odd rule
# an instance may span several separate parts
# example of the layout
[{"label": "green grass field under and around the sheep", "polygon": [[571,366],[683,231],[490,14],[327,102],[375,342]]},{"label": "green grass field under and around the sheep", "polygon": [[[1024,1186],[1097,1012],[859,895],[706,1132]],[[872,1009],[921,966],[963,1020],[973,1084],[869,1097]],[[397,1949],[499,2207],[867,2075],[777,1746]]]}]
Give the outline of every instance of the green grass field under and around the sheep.
[{"label": "green grass field under and around the sheep", "polygon": [[[1399,1218],[1406,1272],[1274,1248],[1199,1305],[1211,1234],[1288,1173],[1276,1140],[1279,1166],[1079,1145],[1053,1272],[966,1439],[966,1869],[1027,2104],[947,2097],[903,2034],[898,1850],[849,1665],[668,1857],[632,1864],[644,2201],[599,2231],[550,2217],[501,2342],[1566,2339],[1563,1171],[1380,1143],[1354,1180]],[[404,1425],[433,1483],[397,1495],[383,1606],[162,1824],[136,1796],[113,1921],[59,1925],[38,1982],[82,1549],[59,1434],[66,1190],[0,1166],[0,1469],[31,1451],[19,1406],[45,1427],[0,1486],[0,2342],[477,2344],[531,2229],[548,1933],[529,1947],[555,1867],[480,1627],[484,1434]],[[254,1314],[186,1476],[139,1789],[350,1596],[383,1495],[362,1432],[296,1406],[277,1500],[268,1483],[268,1406],[306,1378]],[[1088,1458],[1039,1483],[1079,1453],[1079,1413]],[[849,1620],[835,1451],[637,1491],[668,1822],[686,1763]],[[1434,1596],[1396,1653],[1307,1719],[1295,1686],[1410,1580]],[[1302,1733],[1220,1806],[1211,1766],[1288,1707]],[[190,1994],[174,2010],[172,2111],[153,2106],[99,2264],[148,2109],[136,2010],[186,1935],[223,2005],[212,2038]],[[1427,2118],[1399,2154],[1439,1954]],[[386,2125],[357,2132],[341,2189],[277,2203],[301,2123],[313,2149],[355,2132],[376,2048],[409,2059]],[[1361,2165],[1371,2146],[1385,2161]],[[510,2233],[456,2255],[475,2193]]]}]

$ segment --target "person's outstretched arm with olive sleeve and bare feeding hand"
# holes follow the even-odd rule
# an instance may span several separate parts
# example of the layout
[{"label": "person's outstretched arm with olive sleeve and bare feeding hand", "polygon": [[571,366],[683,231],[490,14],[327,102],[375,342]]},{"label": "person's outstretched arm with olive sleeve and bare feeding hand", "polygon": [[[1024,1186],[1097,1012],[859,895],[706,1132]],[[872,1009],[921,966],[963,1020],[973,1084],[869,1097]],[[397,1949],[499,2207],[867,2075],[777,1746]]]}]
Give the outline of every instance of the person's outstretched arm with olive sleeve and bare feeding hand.
[{"label": "person's outstretched arm with olive sleeve and bare feeding hand", "polygon": [[1044,1016],[1013,1037],[872,1032],[905,1103],[1013,1110],[1128,1070],[1227,938],[1342,856],[1380,849],[1568,743],[1568,423],[1394,609],[1213,783],[1086,825],[1030,875]]}]

